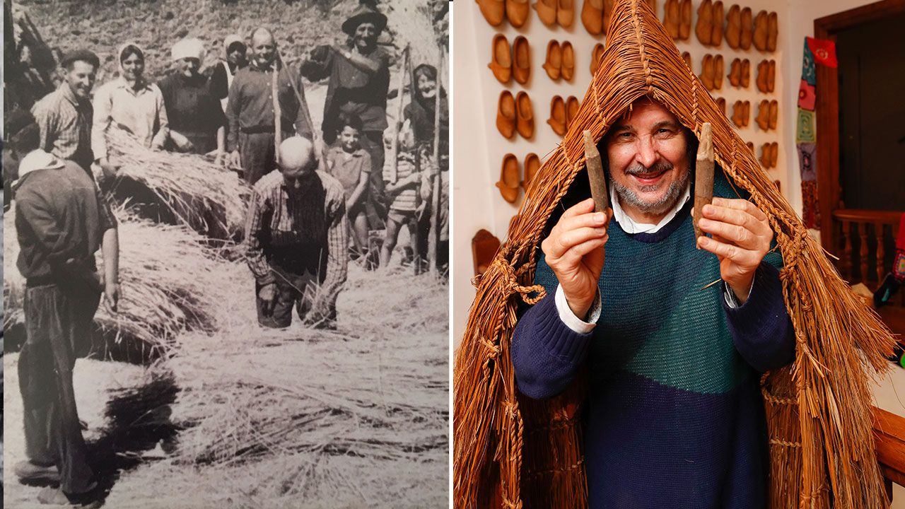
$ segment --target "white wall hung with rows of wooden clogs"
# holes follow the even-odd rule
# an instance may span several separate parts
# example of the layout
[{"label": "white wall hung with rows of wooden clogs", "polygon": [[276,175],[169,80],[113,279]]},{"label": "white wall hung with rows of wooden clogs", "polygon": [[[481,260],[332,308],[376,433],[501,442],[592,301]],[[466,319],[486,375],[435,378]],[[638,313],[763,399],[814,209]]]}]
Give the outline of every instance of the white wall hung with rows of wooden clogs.
[{"label": "white wall hung with rows of wooden clogs", "polygon": [[[533,1],[533,0],[532,0]],[[798,157],[795,151],[795,115],[798,84],[801,81],[801,59],[805,35],[814,34],[814,18],[837,13],[869,2],[863,0],[748,0],[739,4],[751,7],[753,14],[761,9],[776,11],[779,18],[779,35],[776,52],[758,52],[753,44],[746,52],[732,50],[723,41],[719,48],[706,47],[694,35],[699,0],[693,2],[691,40],[677,43],[680,51],[691,53],[694,71],[700,73],[700,62],[705,53],[722,54],[726,73],[729,64],[736,57],[748,58],[751,62],[751,83],[748,89],[734,89],[729,79],[724,77],[722,90],[713,91],[714,97],[727,101],[727,114],[731,115],[731,105],[737,100],[751,101],[751,118],[747,128],[739,130],[742,139],[752,141],[759,155],[760,145],[767,141],[779,143],[777,168],[767,170],[771,180],[779,180],[783,194],[795,210],[801,211],[801,179]],[[518,212],[518,207],[505,202],[494,183],[500,178],[500,163],[503,155],[512,153],[523,161],[529,152],[543,158],[555,149],[559,137],[548,126],[549,102],[554,95],[566,98],[575,95],[579,101],[584,97],[591,80],[589,69],[594,44],[603,41],[588,34],[581,24],[580,9],[583,0],[576,0],[575,23],[569,29],[556,26],[548,28],[540,23],[532,8],[528,23],[520,29],[504,23],[492,27],[481,15],[476,2],[466,0],[453,9],[454,21],[454,71],[453,84],[455,108],[453,110],[453,282],[452,282],[452,331],[455,344],[462,338],[468,310],[474,298],[472,279],[472,236],[481,228],[504,240],[510,217]],[[660,19],[663,15],[663,0],[658,1]],[[729,12],[731,2],[724,3]],[[527,85],[514,81],[508,85],[498,82],[487,64],[491,61],[491,40],[494,34],[505,34],[510,44],[519,34],[525,35],[531,46],[531,79]],[[541,68],[546,57],[550,39],[562,42],[568,40],[576,51],[576,75],[572,82],[559,80],[552,82]],[[757,91],[757,63],[762,59],[776,60],[776,89],[771,94]],[[536,134],[534,139],[504,139],[495,127],[497,101],[500,91],[508,89],[515,95],[527,91],[534,105]],[[819,91],[818,91],[819,93]],[[780,103],[779,122],[776,131],[763,132],[757,128],[757,104],[762,99],[776,99]],[[521,195],[523,196],[523,194]],[[520,196],[520,197],[521,197]],[[520,198],[519,197],[519,203]],[[518,203],[517,203],[518,205]]]}]

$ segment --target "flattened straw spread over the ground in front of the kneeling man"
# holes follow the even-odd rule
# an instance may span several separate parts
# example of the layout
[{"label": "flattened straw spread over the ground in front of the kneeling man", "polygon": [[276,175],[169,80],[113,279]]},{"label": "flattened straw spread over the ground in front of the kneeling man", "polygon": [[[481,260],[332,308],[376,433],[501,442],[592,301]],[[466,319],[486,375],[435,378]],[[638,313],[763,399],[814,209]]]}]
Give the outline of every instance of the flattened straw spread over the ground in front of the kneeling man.
[{"label": "flattened straw spread over the ground in front of the kneeling man", "polygon": [[[358,485],[365,492],[424,476],[428,485],[445,485],[445,287],[426,276],[351,272],[353,288],[339,296],[338,331],[296,323],[285,331],[223,331],[239,342],[186,341],[169,363],[177,379],[191,380],[173,408],[176,425],[187,428],[180,463],[244,471],[278,456],[291,461],[296,475],[283,481],[293,489],[320,489],[313,486],[323,485],[319,466],[350,460],[361,475],[384,477]],[[353,483],[359,476],[349,475]],[[365,505],[396,502],[368,496]]]}]

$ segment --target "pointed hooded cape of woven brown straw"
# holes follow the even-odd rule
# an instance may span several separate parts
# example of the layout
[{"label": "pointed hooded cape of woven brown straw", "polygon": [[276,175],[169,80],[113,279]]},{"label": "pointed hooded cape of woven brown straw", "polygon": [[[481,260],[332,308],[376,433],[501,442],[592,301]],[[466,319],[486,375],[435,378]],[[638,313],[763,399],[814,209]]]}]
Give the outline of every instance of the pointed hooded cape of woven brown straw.
[{"label": "pointed hooded cape of woven brown straw", "polygon": [[792,365],[761,379],[771,507],[887,507],[868,373],[887,369],[891,332],[807,235],[651,7],[619,0],[606,34],[603,62],[576,120],[533,179],[509,240],[476,282],[453,375],[455,506],[586,506],[580,424],[586,381],[576,380],[555,399],[522,397],[510,338],[519,301],[533,304],[543,296],[542,287],[531,285],[534,260],[548,218],[585,171],[583,130],[599,141],[633,101],[649,96],[696,134],[710,122],[716,161],[767,214],[783,255],[780,278],[796,355]]}]

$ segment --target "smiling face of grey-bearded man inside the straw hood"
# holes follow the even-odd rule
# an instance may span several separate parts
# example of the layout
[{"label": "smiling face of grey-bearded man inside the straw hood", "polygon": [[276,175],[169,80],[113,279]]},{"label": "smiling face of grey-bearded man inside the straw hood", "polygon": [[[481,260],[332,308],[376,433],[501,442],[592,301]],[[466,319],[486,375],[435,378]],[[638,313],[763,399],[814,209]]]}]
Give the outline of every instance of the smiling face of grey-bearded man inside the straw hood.
[{"label": "smiling face of grey-bearded man inside the straw hood", "polygon": [[606,137],[610,178],[626,209],[664,214],[688,183],[688,142],[678,119],[660,103],[635,101]]}]

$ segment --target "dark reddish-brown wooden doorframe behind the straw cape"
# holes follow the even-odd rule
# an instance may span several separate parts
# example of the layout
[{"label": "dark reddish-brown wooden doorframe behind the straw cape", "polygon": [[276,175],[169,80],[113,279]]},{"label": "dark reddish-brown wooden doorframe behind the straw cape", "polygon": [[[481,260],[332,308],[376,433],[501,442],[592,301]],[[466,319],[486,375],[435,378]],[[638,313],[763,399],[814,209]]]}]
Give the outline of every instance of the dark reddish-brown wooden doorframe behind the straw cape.
[{"label": "dark reddish-brown wooden doorframe behind the straw cape", "polygon": [[[836,33],[853,26],[905,12],[905,0],[882,0],[842,13],[814,20],[814,37],[836,40]],[[839,232],[835,231],[833,211],[839,208],[839,72],[834,67],[817,65],[817,202],[820,210],[820,239],[824,249],[835,254]]]}]

